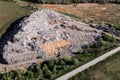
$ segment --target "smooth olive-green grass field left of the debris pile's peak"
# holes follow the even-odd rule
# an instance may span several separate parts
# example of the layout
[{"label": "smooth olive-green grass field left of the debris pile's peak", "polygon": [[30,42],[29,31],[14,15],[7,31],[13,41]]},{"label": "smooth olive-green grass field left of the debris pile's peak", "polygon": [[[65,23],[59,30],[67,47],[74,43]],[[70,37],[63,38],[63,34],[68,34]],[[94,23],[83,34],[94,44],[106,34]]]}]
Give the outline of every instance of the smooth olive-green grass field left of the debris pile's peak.
[{"label": "smooth olive-green grass field left of the debris pile's peak", "polygon": [[22,8],[16,3],[0,1],[0,35],[17,19],[28,15],[31,10]]}]

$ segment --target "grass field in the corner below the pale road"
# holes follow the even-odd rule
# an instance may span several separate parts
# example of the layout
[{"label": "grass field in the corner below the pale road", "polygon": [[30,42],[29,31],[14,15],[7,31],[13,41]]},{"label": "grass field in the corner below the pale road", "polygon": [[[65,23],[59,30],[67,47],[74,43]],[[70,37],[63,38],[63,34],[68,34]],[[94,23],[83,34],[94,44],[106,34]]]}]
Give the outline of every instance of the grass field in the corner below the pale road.
[{"label": "grass field in the corner below the pale road", "polygon": [[70,80],[120,80],[120,52]]}]

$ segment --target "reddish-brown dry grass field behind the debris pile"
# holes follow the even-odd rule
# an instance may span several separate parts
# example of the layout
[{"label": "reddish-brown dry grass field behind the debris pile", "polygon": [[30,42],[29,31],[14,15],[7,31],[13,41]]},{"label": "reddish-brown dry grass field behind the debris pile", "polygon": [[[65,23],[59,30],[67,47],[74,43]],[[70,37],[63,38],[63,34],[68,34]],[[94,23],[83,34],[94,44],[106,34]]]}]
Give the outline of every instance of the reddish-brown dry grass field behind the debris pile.
[{"label": "reddish-brown dry grass field behind the debris pile", "polygon": [[53,9],[60,12],[74,14],[89,22],[96,20],[99,22],[120,23],[120,5],[117,4],[72,4],[72,5],[39,5],[44,8]]}]

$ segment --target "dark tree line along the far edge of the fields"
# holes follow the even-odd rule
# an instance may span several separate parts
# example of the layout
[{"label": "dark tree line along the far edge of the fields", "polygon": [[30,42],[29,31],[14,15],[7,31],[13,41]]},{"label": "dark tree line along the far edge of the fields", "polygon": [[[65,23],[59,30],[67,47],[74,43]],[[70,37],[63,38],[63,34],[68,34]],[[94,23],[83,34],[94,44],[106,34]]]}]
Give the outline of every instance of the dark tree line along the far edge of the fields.
[{"label": "dark tree line along the far edge of the fields", "polygon": [[71,3],[120,3],[120,0],[25,0],[40,4],[71,4]]}]

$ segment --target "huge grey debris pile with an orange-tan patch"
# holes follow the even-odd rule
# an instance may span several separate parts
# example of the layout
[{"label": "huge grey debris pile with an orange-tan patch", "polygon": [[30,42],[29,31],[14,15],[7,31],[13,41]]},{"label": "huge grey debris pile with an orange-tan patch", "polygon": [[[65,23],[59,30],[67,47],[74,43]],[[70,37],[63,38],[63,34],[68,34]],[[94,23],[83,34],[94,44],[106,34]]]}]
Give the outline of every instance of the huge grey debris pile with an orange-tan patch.
[{"label": "huge grey debris pile with an orange-tan patch", "polygon": [[44,9],[22,19],[1,39],[0,52],[8,64],[52,58],[80,51],[101,32],[55,11]]}]

